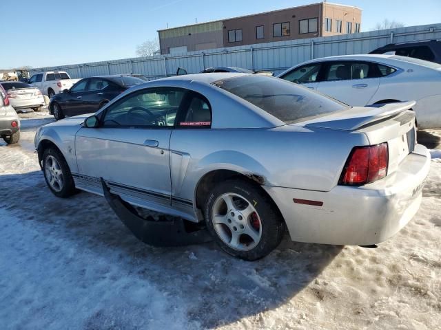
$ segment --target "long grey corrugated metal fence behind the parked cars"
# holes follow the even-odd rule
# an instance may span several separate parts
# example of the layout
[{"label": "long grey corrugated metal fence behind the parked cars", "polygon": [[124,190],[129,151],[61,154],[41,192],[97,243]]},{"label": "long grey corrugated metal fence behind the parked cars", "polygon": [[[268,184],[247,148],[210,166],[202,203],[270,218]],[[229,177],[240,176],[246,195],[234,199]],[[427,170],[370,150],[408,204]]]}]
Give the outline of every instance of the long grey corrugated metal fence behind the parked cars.
[{"label": "long grey corrugated metal fence behind the parked cars", "polygon": [[256,71],[269,70],[278,74],[311,58],[367,54],[388,43],[433,39],[441,39],[441,23],[187,52],[180,56],[136,57],[115,61],[41,67],[32,69],[32,71],[63,70],[68,72],[72,78],[107,74],[142,74],[150,80],[174,76],[178,67],[187,69],[189,74],[201,72],[207,67],[244,67]]}]

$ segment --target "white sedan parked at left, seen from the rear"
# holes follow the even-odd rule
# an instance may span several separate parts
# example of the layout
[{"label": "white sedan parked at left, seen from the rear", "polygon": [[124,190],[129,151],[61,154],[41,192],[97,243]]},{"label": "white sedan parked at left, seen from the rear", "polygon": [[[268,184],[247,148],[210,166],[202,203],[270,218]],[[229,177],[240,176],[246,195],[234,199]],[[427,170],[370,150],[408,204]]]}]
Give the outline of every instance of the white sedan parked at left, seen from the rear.
[{"label": "white sedan parked at left, seen from the rear", "polygon": [[0,84],[6,90],[10,104],[16,111],[29,108],[34,111],[40,111],[41,107],[43,107],[44,98],[38,88],[15,81],[2,81]]}]

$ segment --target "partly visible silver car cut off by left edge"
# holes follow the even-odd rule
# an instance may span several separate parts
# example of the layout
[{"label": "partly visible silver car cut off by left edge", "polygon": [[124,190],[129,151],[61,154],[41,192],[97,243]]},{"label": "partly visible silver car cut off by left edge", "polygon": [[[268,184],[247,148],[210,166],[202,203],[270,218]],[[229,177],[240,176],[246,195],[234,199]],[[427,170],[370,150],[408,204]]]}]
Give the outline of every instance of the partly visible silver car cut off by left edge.
[{"label": "partly visible silver car cut off by left edge", "polygon": [[0,85],[0,137],[7,144],[20,140],[20,118],[11,106],[8,94]]}]

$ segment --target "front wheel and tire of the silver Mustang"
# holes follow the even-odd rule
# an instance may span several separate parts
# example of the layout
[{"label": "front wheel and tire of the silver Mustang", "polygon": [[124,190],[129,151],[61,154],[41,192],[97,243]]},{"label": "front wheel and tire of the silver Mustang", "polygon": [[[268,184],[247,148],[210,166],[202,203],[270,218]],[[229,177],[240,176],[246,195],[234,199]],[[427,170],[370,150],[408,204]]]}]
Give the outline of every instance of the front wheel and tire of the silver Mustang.
[{"label": "front wheel and tire of the silver Mustang", "polygon": [[74,195],[75,184],[68,163],[57,148],[43,152],[43,174],[50,191],[61,198]]}]

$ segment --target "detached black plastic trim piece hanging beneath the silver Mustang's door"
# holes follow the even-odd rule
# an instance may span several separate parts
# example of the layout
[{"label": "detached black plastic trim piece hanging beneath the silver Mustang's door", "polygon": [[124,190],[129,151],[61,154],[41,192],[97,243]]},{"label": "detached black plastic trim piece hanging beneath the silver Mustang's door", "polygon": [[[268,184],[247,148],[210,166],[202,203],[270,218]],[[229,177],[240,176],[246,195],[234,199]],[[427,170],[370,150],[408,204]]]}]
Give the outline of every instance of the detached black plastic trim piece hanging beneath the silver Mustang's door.
[{"label": "detached black plastic trim piece hanging beneath the silver Mustang's door", "polygon": [[107,203],[140,241],[153,246],[180,246],[213,240],[205,228],[181,218],[172,221],[155,221],[153,217],[143,218],[132,205],[123,201],[118,195],[112,194],[102,177],[101,184]]}]

